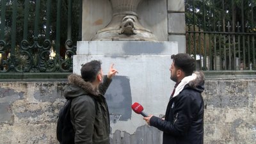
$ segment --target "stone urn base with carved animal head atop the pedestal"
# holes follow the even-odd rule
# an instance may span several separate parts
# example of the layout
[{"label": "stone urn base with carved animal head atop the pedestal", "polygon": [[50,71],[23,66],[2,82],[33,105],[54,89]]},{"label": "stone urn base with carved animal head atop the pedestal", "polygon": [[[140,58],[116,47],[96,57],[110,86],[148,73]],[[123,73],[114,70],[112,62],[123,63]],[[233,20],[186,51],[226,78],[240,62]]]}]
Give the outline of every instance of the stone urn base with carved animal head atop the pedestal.
[{"label": "stone urn base with carved animal head atop the pedestal", "polygon": [[112,20],[106,28],[97,31],[92,40],[157,41],[156,36],[141,26],[137,8],[143,0],[108,0],[112,6]]}]

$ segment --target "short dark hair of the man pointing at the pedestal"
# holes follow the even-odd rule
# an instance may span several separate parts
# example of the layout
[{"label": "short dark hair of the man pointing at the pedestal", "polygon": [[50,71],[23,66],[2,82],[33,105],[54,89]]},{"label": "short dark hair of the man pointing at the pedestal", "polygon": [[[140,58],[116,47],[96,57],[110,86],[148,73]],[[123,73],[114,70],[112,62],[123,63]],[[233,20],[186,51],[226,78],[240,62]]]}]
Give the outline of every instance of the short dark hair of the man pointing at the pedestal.
[{"label": "short dark hair of the man pointing at the pedestal", "polygon": [[84,81],[93,82],[101,70],[101,61],[92,60],[82,65],[81,76]]}]

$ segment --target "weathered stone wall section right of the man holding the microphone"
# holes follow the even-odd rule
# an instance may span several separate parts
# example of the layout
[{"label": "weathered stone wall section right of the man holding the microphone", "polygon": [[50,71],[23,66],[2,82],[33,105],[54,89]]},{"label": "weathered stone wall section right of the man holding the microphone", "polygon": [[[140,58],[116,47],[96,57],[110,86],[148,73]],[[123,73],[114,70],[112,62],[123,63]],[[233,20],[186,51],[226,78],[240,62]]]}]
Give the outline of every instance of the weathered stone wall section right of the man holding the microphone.
[{"label": "weathered stone wall section right of the man holding the microphone", "polygon": [[205,143],[254,143],[255,79],[206,81]]}]

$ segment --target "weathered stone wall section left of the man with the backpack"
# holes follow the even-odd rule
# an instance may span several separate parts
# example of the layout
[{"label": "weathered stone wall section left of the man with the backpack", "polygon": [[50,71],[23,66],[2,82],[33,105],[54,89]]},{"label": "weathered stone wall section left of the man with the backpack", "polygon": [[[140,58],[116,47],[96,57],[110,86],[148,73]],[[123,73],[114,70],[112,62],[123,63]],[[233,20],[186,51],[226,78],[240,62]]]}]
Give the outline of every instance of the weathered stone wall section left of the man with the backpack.
[{"label": "weathered stone wall section left of the man with the backpack", "polygon": [[65,100],[64,81],[2,82],[0,84],[0,143],[56,141],[56,120]]}]

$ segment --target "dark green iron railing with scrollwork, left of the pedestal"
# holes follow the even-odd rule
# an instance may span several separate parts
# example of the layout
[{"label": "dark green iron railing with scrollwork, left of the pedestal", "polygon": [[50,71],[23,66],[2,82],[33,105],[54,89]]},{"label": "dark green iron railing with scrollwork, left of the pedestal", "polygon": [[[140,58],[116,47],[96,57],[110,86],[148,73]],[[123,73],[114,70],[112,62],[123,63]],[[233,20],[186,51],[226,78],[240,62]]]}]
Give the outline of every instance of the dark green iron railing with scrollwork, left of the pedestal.
[{"label": "dark green iron railing with scrollwork, left of the pedestal", "polygon": [[72,72],[82,2],[0,1],[0,74]]}]

